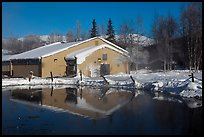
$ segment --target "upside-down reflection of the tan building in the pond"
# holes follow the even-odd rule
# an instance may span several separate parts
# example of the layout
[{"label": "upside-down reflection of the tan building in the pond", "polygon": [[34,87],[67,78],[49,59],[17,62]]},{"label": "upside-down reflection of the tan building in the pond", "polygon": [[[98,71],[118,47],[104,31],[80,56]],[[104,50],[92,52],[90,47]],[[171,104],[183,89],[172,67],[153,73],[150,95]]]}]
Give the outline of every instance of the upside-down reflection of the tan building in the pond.
[{"label": "upside-down reflection of the tan building in the pond", "polygon": [[132,91],[107,87],[101,89],[67,87],[13,90],[11,100],[100,119],[126,105],[134,96],[135,93]]}]

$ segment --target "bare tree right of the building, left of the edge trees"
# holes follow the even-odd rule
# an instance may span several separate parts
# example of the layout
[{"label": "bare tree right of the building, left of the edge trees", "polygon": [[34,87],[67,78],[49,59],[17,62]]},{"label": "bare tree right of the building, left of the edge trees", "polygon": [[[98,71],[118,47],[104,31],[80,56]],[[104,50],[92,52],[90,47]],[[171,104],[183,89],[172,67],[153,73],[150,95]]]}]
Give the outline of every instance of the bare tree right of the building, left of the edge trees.
[{"label": "bare tree right of the building, left of the edge trees", "polygon": [[175,38],[176,26],[177,23],[171,15],[167,17],[155,16],[154,18],[152,31],[158,48],[158,59],[163,61],[164,71],[172,69],[172,41]]}]

